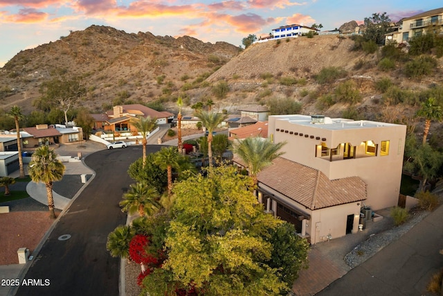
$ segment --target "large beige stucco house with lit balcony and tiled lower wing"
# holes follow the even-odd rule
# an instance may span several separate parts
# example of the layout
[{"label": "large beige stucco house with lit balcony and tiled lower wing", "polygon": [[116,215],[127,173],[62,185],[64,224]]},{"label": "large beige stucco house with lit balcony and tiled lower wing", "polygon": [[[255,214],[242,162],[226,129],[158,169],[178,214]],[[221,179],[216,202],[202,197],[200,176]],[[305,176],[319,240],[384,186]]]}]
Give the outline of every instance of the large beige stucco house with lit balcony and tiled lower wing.
[{"label": "large beige stucco house with lit balcony and tiled lower wing", "polygon": [[372,210],[397,205],[405,125],[269,116],[268,137],[287,144],[257,175],[258,200],[312,244],[357,232],[362,208],[370,207],[369,220]]}]

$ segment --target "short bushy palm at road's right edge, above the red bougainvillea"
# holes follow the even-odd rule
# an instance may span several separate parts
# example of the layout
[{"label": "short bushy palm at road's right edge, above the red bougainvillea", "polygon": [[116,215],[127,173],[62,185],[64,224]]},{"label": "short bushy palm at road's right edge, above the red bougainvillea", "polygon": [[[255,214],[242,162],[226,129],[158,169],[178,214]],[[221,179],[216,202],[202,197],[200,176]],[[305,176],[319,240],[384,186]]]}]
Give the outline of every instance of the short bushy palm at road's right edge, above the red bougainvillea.
[{"label": "short bushy palm at road's right edge, above the red bougainvillea", "polygon": [[123,195],[123,200],[120,202],[122,211],[127,211],[129,214],[138,211],[143,217],[151,216],[159,209],[159,192],[154,186],[146,182],[138,182],[129,187],[129,191]]}]

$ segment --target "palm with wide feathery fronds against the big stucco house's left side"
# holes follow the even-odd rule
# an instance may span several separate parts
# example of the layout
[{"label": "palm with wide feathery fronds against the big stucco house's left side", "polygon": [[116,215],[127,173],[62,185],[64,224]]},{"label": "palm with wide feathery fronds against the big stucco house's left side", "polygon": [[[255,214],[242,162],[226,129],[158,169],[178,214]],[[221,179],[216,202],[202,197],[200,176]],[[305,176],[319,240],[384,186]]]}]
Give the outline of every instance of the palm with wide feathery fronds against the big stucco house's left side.
[{"label": "palm with wide feathery fronds against the big stucco house's left side", "polygon": [[233,144],[233,153],[237,154],[246,164],[249,175],[257,186],[257,175],[266,166],[271,165],[273,159],[282,155],[279,150],[286,142],[273,143],[261,137],[249,137],[240,141],[236,139]]}]

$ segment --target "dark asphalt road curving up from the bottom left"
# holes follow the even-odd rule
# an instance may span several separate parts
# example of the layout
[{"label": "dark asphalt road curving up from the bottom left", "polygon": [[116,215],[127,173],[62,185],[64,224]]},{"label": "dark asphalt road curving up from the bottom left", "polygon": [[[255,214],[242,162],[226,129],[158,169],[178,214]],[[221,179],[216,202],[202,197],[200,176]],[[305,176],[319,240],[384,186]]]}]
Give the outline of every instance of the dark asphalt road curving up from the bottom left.
[{"label": "dark asphalt road curving up from the bottom left", "polygon": [[[147,153],[161,147],[147,146]],[[60,218],[34,259],[24,277],[31,285],[21,284],[16,295],[119,295],[120,259],[109,255],[106,241],[109,232],[126,222],[118,202],[134,182],[127,168],[141,156],[141,146],[129,146],[101,150],[84,159],[96,176]],[[58,239],[66,234],[71,238]]]}]

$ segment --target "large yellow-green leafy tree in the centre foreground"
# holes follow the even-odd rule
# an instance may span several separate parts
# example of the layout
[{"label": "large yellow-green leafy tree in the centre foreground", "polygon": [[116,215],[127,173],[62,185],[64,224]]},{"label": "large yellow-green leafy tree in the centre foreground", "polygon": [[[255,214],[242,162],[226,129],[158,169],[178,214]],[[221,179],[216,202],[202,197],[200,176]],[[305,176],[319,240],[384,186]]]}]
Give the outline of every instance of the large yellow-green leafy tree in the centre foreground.
[{"label": "large yellow-green leafy tree in the centre foreground", "polygon": [[[183,286],[208,295],[279,295],[289,286],[271,259],[269,229],[283,222],[264,214],[251,191],[250,177],[233,166],[210,168],[178,183],[165,246],[163,269]],[[164,275],[164,274],[163,274]],[[149,276],[148,276],[149,277]]]}]

